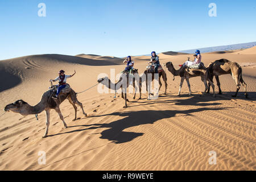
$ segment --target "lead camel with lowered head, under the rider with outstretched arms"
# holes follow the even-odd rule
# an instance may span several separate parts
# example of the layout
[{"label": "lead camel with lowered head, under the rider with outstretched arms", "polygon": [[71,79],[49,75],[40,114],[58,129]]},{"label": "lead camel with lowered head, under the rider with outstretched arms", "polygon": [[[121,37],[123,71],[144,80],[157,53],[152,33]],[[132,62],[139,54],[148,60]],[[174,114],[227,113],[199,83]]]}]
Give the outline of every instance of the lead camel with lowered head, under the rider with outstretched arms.
[{"label": "lead camel with lowered head, under the rider with outstretched arms", "polygon": [[57,100],[52,98],[53,92],[54,92],[53,89],[50,89],[47,92],[44,92],[41,98],[41,101],[35,106],[31,106],[27,104],[27,102],[24,102],[23,100],[18,100],[12,104],[6,105],[4,110],[13,111],[14,113],[19,113],[21,115],[39,114],[45,110],[46,111],[46,133],[44,134],[43,138],[47,137],[47,134],[48,134],[51,109],[54,109],[59,114],[61,121],[63,121],[64,129],[68,127],[60,111],[60,104],[66,99],[68,99],[68,101],[73,105],[75,109],[75,119],[73,119],[73,121],[77,119],[76,104],[81,107],[82,113],[86,117],[86,113],[82,108],[82,103],[77,100],[76,93],[73,89],[70,89],[69,93],[60,93],[59,98]]}]

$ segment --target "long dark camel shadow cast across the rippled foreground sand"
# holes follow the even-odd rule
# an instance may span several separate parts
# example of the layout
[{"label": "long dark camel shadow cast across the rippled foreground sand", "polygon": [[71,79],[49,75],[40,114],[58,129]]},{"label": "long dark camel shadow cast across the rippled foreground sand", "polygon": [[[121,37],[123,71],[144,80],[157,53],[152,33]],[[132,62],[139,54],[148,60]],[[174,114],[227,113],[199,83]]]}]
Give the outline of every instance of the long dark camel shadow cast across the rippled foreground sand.
[{"label": "long dark camel shadow cast across the rippled foreground sand", "polygon": [[[185,101],[181,101],[180,103],[185,103]],[[162,102],[160,102],[162,103]],[[150,103],[148,103],[150,104]],[[152,103],[151,103],[152,104]],[[163,103],[162,103],[163,104]],[[184,115],[193,115],[192,113],[198,113],[200,111],[206,110],[224,110],[226,108],[220,107],[212,107],[212,108],[200,108],[200,109],[188,109],[188,110],[139,110],[139,111],[124,111],[124,112],[115,112],[110,114],[104,115],[94,115],[91,117],[104,117],[104,116],[111,116],[116,115],[122,117],[117,121],[113,121],[110,123],[95,123],[92,125],[77,125],[77,126],[69,126],[69,128],[73,127],[85,127],[84,129],[72,130],[67,131],[65,133],[59,133],[54,135],[49,135],[48,137],[53,137],[56,135],[67,134],[67,133],[74,133],[79,131],[85,130],[94,130],[99,128],[108,128],[102,131],[101,139],[108,139],[114,143],[125,143],[130,142],[134,138],[142,136],[144,133],[135,133],[135,132],[127,132],[123,131],[127,128],[139,126],[139,125],[146,125],[146,124],[154,124],[154,122],[159,121],[160,119],[167,119],[176,117],[176,114],[184,114]]]}]

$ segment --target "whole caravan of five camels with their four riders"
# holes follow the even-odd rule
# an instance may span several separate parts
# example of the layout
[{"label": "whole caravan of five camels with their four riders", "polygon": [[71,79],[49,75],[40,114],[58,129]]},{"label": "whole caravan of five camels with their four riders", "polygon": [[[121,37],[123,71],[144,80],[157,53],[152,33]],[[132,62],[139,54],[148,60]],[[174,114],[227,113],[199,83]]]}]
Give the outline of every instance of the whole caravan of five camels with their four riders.
[{"label": "whole caravan of five camels with their four riders", "polygon": [[[214,92],[214,84],[213,84],[213,77],[216,78],[217,85],[218,85],[218,94],[222,94],[221,88],[220,88],[220,80],[218,76],[220,75],[226,75],[230,74],[232,75],[233,79],[236,82],[237,90],[236,93],[232,97],[236,97],[238,91],[241,88],[241,85],[245,89],[245,97],[247,98],[247,90],[246,90],[246,83],[243,81],[242,78],[242,68],[238,63],[226,60],[226,59],[220,59],[216,60],[208,65],[208,67],[205,67],[204,64],[201,62],[201,54],[200,51],[197,50],[196,54],[194,55],[195,59],[193,61],[190,61],[189,59],[185,61],[183,65],[179,65],[179,69],[175,69],[172,62],[168,62],[164,64],[163,66],[168,69],[175,76],[180,76],[180,87],[179,87],[179,93],[178,96],[180,96],[181,88],[183,85],[184,80],[187,81],[188,89],[189,89],[189,95],[191,95],[191,86],[189,84],[189,78],[191,77],[201,77],[201,81],[204,82],[205,85],[205,91],[204,94],[210,92],[210,86],[212,86],[213,89],[213,97],[215,97]],[[127,99],[127,88],[129,85],[132,85],[135,89],[135,94],[133,99],[136,97],[136,93],[139,90],[139,98],[141,99],[141,93],[142,93],[142,85],[146,83],[146,92],[147,92],[147,100],[151,100],[151,96],[154,95],[151,93],[150,85],[153,80],[155,80],[159,84],[158,92],[162,86],[162,82],[160,78],[162,77],[165,85],[165,91],[164,94],[166,94],[167,90],[167,76],[166,72],[164,71],[163,67],[160,65],[159,62],[159,56],[156,55],[156,53],[153,51],[151,52],[151,60],[148,62],[148,66],[146,70],[143,72],[142,76],[139,76],[138,69],[134,68],[134,61],[131,60],[131,56],[128,56],[126,60],[123,61],[123,63],[126,63],[126,68],[124,71],[121,72],[121,76],[119,77],[119,80],[116,83],[113,83],[109,80],[108,77],[100,78],[97,80],[98,84],[105,85],[107,88],[112,89],[115,91],[115,97],[117,94],[117,90],[121,89],[121,96],[123,100],[125,100],[125,105],[123,108],[127,107],[127,102],[129,100]],[[49,87],[49,90],[43,93],[43,96],[41,98],[41,101],[36,104],[35,106],[31,106],[27,104],[27,102],[24,102],[23,100],[18,100],[13,102],[12,104],[6,105],[4,111],[13,111],[14,113],[19,113],[21,115],[30,115],[30,114],[37,114],[42,113],[42,111],[46,111],[46,131],[43,135],[44,137],[47,137],[48,135],[48,128],[49,128],[49,121],[50,121],[50,110],[54,109],[58,114],[63,122],[64,128],[67,128],[67,124],[64,121],[64,117],[61,114],[60,111],[60,104],[64,100],[68,100],[72,106],[75,109],[75,118],[73,121],[77,119],[77,106],[79,105],[81,107],[82,113],[87,116],[82,103],[77,100],[77,93],[70,87],[69,84],[67,84],[67,78],[70,78],[76,74],[73,73],[73,75],[65,75],[64,71],[61,70],[59,72],[59,76],[57,76],[54,80],[49,80],[51,82],[51,86]],[[173,79],[173,80],[174,80]],[[58,85],[53,85],[52,82],[59,81]],[[207,83],[208,82],[208,83]]]}]

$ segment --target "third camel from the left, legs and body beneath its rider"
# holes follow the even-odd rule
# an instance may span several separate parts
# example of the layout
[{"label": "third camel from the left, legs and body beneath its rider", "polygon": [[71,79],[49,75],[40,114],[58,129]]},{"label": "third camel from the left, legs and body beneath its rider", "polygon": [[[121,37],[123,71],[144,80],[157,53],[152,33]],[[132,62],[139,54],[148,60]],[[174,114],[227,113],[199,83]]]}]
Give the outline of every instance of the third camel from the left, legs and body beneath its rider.
[{"label": "third camel from the left, legs and body beneath its rider", "polygon": [[[148,74],[152,74],[152,81],[154,80],[154,73],[155,73],[155,70],[154,68],[151,66],[151,65],[148,65],[147,69],[144,71],[144,74],[146,76],[146,79],[143,80],[143,81],[146,81],[146,90],[147,90],[147,100],[150,100],[150,94],[152,95],[152,93],[150,92],[150,84],[148,84],[147,82],[147,76]],[[166,94],[166,90],[167,90],[167,76],[166,76],[166,72],[164,72],[162,66],[158,68],[158,74],[159,74],[159,89],[158,89],[158,92],[160,90],[160,88],[162,87],[162,82],[160,80],[161,77],[163,77],[163,81],[164,81],[164,84],[165,84],[165,91],[164,91],[164,94]],[[142,77],[140,78],[140,84],[142,83]]]}]

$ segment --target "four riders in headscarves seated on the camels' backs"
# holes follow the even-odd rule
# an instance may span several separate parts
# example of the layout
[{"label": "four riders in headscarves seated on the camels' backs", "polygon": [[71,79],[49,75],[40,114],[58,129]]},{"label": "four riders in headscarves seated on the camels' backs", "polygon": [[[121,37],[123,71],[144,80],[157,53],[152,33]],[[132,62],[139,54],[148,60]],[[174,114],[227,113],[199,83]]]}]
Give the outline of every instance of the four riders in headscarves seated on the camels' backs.
[{"label": "four riders in headscarves seated on the camels' backs", "polygon": [[[185,63],[183,65],[179,65],[179,66],[188,68],[192,65],[200,64],[201,63],[201,58],[202,58],[201,54],[200,54],[200,51],[196,50],[195,53],[196,54],[194,55],[194,58],[195,58],[194,61],[187,60],[187,61],[185,61]],[[130,73],[130,71],[134,69],[134,61],[131,60],[131,56],[127,56],[127,59],[124,60],[123,63],[126,63],[126,68],[123,72],[129,72]],[[148,63],[151,63],[152,65],[154,65],[155,73],[158,73],[158,68],[160,67],[160,62],[159,62],[159,56],[156,55],[155,51],[151,52],[151,59],[150,59],[150,62],[148,62]],[[65,72],[63,70],[61,70],[59,72],[59,76],[57,76],[54,80],[49,80],[49,81],[53,81],[53,82],[59,81],[59,85],[58,85],[58,88],[57,88],[57,93],[52,98],[57,99],[61,90],[64,89],[65,86],[66,86],[67,78],[70,78],[70,77],[74,76],[76,74],[76,71],[73,75],[65,75],[64,73]]]}]

